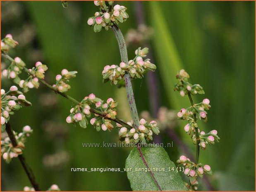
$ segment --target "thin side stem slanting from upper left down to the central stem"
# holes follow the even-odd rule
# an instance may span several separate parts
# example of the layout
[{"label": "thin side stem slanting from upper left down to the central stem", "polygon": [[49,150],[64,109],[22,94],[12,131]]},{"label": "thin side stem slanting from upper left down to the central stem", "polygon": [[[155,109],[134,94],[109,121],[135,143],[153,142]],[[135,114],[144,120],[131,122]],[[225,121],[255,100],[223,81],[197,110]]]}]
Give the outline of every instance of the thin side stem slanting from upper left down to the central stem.
[{"label": "thin side stem slanting from upper left down to the central stem", "polygon": [[[9,55],[7,55],[7,54],[5,54],[5,53],[2,53],[2,56],[5,57],[6,59],[8,59],[10,62],[14,62],[14,59],[12,59],[12,57],[10,57]],[[31,71],[29,71],[29,69],[27,69],[26,67],[24,67],[24,71],[25,71],[26,73],[29,73],[30,75],[34,76],[34,74],[31,73]],[[50,88],[51,90],[53,90],[55,93],[61,95],[62,97],[65,97],[66,99],[72,101],[72,102],[75,103],[75,104],[80,104],[80,102],[77,101],[77,100],[75,100],[73,97],[70,97],[69,95],[67,95],[67,94],[65,94],[65,93],[63,93],[63,92],[59,92],[58,90],[56,90],[52,85],[50,85],[49,83],[47,83],[45,80],[39,79],[39,81],[40,81],[41,83],[43,83],[44,85],[46,85],[46,86],[47,86],[48,88]],[[117,118],[115,118],[115,119],[108,118],[108,117],[106,117],[106,114],[105,114],[105,113],[103,113],[103,112],[101,112],[101,111],[98,111],[98,110],[96,110],[96,109],[92,109],[92,108],[91,108],[90,111],[91,111],[92,113],[98,114],[98,115],[100,115],[100,116],[102,116],[102,117],[104,117],[104,118],[106,118],[106,119],[110,119],[110,120],[112,120],[112,121],[115,121],[116,123],[119,123],[120,125],[122,125],[122,126],[128,128],[128,129],[132,129],[132,126],[129,126],[127,123],[125,123],[124,121],[122,121],[122,120],[120,120],[120,119],[117,119]]]}]

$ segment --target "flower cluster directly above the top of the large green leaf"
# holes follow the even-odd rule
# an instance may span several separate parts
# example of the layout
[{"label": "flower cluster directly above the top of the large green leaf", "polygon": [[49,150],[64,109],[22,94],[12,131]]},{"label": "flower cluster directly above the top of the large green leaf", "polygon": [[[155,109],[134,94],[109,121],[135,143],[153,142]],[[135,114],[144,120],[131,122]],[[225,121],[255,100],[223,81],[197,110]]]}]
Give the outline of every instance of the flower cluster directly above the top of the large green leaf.
[{"label": "flower cluster directly above the top of the large green leaf", "polygon": [[[126,127],[117,123],[119,130],[119,139],[125,143],[138,143],[139,141],[142,144],[146,144],[147,141],[153,140],[153,133],[156,135],[159,134],[159,128],[157,127],[156,121],[151,121],[147,123],[145,119],[139,121],[140,125],[137,129],[132,128],[128,130]],[[132,123],[128,122],[130,126]]]}]

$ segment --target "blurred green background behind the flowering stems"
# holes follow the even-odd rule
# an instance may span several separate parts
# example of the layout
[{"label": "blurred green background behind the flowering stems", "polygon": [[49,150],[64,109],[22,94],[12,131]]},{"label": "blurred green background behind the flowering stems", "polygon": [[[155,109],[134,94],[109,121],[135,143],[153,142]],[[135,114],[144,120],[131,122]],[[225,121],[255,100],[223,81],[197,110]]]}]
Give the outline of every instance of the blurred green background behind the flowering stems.
[{"label": "blurred green background behind the flowering stems", "polygon": [[[127,6],[129,19],[120,24],[125,34],[137,28],[134,2],[115,2]],[[255,2],[141,2],[146,24],[153,28],[152,59],[158,67],[160,106],[178,111],[188,107],[187,97],[173,92],[175,75],[185,69],[191,83],[199,83],[206,94],[194,100],[211,101],[208,123],[200,126],[208,132],[217,129],[221,140],[206,151],[200,161],[212,167],[209,176],[215,190],[255,190]],[[137,7],[138,8],[138,7]],[[38,60],[48,66],[46,81],[64,68],[78,71],[70,81],[68,94],[77,100],[93,92],[106,100],[120,103],[117,116],[129,121],[125,89],[103,84],[101,71],[107,64],[119,64],[120,53],[111,30],[94,33],[87,25],[98,8],[93,2],[1,2],[1,38],[12,33],[19,46],[10,52],[21,57],[30,68]],[[141,10],[143,13],[144,11]],[[130,59],[135,46],[128,47]],[[2,69],[9,62],[2,59]],[[148,74],[147,74],[148,75]],[[12,82],[1,79],[8,89]],[[133,81],[139,113],[150,110],[146,78]],[[96,132],[65,123],[72,103],[55,95],[44,85],[30,90],[27,100],[33,106],[11,116],[14,130],[30,125],[34,132],[26,142],[24,156],[33,169],[42,190],[52,184],[61,190],[131,190],[126,173],[71,172],[71,168],[124,167],[129,148],[83,148],[82,142],[117,142],[118,132]],[[151,113],[156,111],[151,111]],[[175,132],[194,154],[195,146],[184,134],[185,122]],[[164,130],[164,143],[170,142]],[[170,159],[182,154],[179,146],[166,149]],[[22,190],[30,186],[18,159],[1,162],[1,189]],[[186,178],[187,179],[187,178]],[[202,182],[200,182],[202,183]],[[206,190],[200,185],[199,190]]]}]

